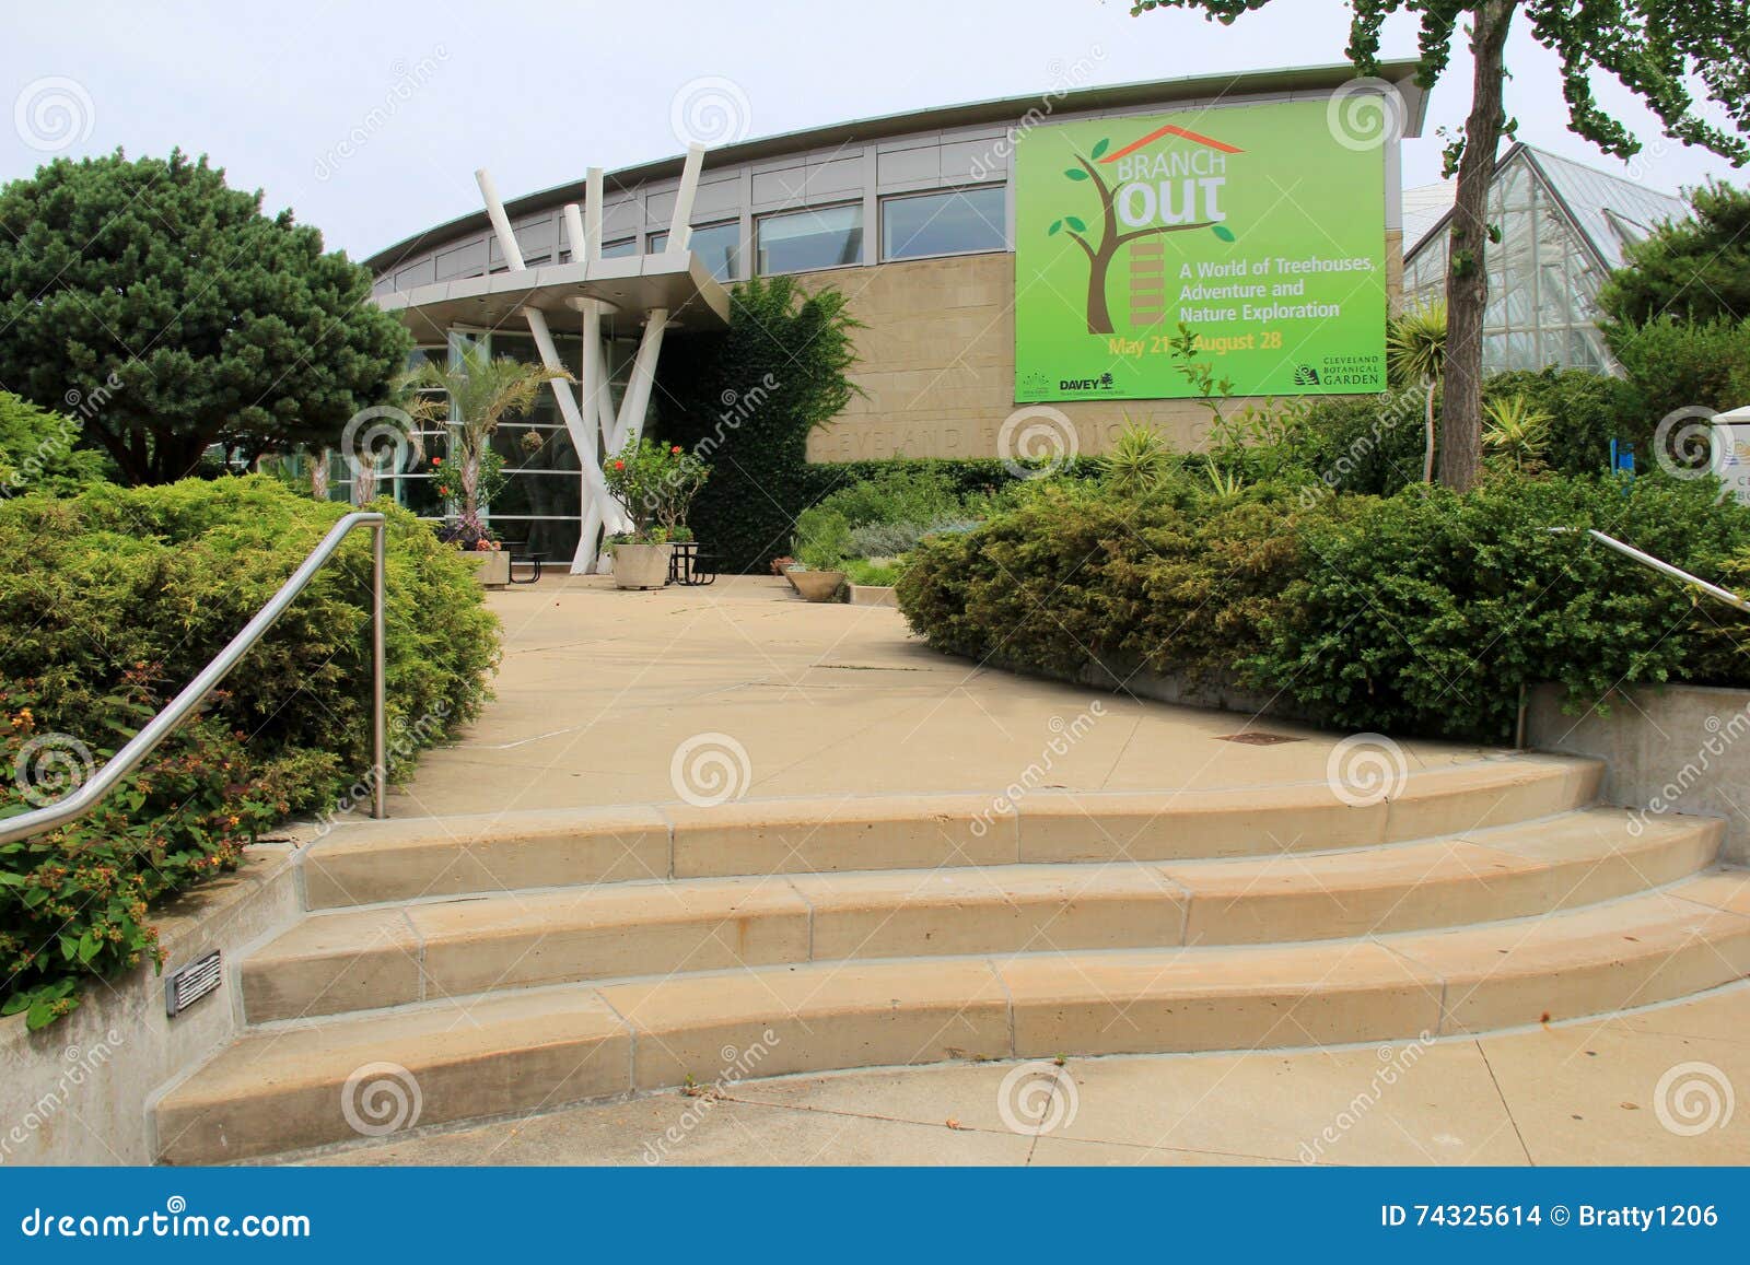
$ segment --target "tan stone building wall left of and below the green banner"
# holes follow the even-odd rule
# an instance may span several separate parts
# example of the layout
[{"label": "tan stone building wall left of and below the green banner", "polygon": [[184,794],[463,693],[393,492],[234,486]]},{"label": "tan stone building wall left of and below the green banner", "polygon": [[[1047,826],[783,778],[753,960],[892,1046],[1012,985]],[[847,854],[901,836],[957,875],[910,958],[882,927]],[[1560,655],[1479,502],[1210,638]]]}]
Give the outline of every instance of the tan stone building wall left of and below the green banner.
[{"label": "tan stone building wall left of and below the green banner", "polygon": [[[1386,234],[1391,303],[1404,285],[1404,240]],[[852,373],[864,395],[808,439],[808,460],[996,457],[1015,411],[1015,255],[950,255],[835,268],[796,278],[836,285],[866,329]],[[1185,399],[1054,404],[1076,427],[1078,450],[1102,453],[1125,422],[1160,430],[1176,448],[1204,443],[1209,411]]]}]

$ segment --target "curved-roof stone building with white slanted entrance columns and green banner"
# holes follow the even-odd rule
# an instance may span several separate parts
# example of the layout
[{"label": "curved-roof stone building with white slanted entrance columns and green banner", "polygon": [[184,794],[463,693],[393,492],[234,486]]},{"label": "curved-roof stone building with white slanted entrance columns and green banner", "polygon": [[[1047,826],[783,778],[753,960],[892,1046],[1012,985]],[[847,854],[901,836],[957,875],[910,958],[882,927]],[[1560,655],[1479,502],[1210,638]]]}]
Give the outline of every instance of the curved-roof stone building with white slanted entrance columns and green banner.
[{"label": "curved-roof stone building with white slanted entrance columns and green banner", "polygon": [[[578,374],[584,336],[567,313],[597,311],[609,439],[653,311],[670,336],[696,336],[728,317],[724,287],[789,273],[844,290],[863,324],[863,394],[810,437],[810,460],[996,457],[1017,404],[1052,415],[1080,451],[1101,451],[1125,420],[1194,446],[1208,409],[1171,348],[1186,317],[1220,369],[1251,366],[1241,395],[1382,383],[1402,276],[1398,142],[1419,135],[1426,105],[1412,73],[1066,84],[831,124],[712,149],[691,189],[679,156],[602,175],[597,199],[588,178],[513,198],[502,227],[516,261],[481,210],[366,262],[422,355],[460,336],[536,359],[534,308]],[[1367,105],[1376,117],[1356,115]],[[686,201],[690,241],[674,250]],[[586,257],[579,226],[597,222]],[[1335,353],[1318,345],[1344,322]],[[593,532],[579,471],[598,453],[576,451],[584,434],[595,446],[593,411],[546,399],[506,429],[495,525],[550,555],[572,549],[579,521]],[[396,495],[439,513],[420,478],[397,476]]]}]

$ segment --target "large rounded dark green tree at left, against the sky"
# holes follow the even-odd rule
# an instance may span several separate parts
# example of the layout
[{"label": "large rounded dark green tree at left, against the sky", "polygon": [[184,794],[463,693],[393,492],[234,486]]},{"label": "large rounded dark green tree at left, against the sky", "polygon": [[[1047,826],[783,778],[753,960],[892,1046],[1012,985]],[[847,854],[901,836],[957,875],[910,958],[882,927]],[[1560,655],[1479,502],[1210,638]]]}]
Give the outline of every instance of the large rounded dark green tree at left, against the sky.
[{"label": "large rounded dark green tree at left, against the sky", "polygon": [[290,212],[180,150],[56,159],[0,189],[0,383],[42,408],[103,397],[86,434],[126,483],[326,446],[411,345],[371,275]]}]

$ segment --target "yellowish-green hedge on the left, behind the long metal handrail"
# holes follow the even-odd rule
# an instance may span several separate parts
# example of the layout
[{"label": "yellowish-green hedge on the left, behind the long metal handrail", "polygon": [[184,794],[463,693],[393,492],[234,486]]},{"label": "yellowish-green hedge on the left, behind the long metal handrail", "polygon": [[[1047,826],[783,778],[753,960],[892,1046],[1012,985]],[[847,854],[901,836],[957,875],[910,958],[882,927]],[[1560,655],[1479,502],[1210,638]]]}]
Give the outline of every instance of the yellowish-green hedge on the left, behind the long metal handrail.
[{"label": "yellowish-green hedge on the left, behind the long metal handrail", "polygon": [[[388,502],[392,773],[488,698],[497,621],[467,563]],[[0,815],[72,789],[261,609],[345,506],[268,478],[0,504]],[[40,1025],[156,957],[150,905],[327,810],[369,766],[371,542],[317,572],[200,719],[86,821],[0,845],[0,996]]]}]

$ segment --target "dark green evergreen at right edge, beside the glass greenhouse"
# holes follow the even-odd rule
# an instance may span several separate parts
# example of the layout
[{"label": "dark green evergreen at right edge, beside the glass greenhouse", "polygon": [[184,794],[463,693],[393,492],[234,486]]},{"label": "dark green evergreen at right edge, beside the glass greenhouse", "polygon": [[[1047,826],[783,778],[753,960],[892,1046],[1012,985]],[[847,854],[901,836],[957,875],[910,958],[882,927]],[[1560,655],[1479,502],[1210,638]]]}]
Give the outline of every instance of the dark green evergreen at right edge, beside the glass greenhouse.
[{"label": "dark green evergreen at right edge, beside the glass greenhouse", "polygon": [[1628,262],[1598,294],[1614,320],[1750,317],[1750,191],[1710,180],[1689,192],[1689,206],[1687,219],[1624,250]]}]

